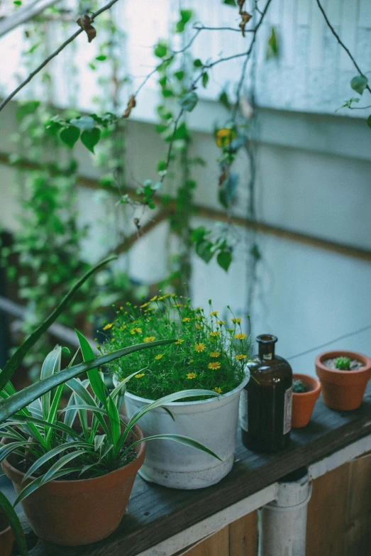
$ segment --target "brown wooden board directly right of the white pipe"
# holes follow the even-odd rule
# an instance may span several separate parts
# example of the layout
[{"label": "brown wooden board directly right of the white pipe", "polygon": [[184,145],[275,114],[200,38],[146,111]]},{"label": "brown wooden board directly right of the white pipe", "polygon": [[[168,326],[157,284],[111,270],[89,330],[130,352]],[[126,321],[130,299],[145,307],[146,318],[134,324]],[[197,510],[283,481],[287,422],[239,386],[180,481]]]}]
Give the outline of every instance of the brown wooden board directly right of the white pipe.
[{"label": "brown wooden board directly right of the white pipe", "polygon": [[313,481],[306,524],[306,556],[346,556],[348,475],[349,464],[343,464]]}]

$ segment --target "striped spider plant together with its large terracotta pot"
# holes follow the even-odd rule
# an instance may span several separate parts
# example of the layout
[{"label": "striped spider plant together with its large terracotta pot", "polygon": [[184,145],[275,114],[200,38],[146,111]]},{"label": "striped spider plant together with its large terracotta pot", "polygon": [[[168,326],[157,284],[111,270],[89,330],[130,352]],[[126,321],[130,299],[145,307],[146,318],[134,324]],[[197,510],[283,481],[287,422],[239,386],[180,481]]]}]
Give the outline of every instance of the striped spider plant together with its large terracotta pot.
[{"label": "striped spider plant together with its large terracotta pot", "polygon": [[[84,360],[91,361],[92,347],[78,335]],[[56,347],[48,354],[41,378],[60,372],[61,353],[62,348]],[[86,381],[67,381],[72,395],[60,412],[62,384],[53,396],[45,393],[1,425],[0,461],[18,494],[14,505],[22,502],[33,530],[43,540],[75,546],[110,535],[126,511],[135,475],[144,461],[145,440],[175,440],[218,458],[182,435],[144,438],[137,425],[143,415],[162,403],[216,393],[206,389],[174,393],[125,420],[118,408],[131,378],[126,377],[109,393],[99,371],[92,369]],[[6,386],[5,396],[11,393]]]}]

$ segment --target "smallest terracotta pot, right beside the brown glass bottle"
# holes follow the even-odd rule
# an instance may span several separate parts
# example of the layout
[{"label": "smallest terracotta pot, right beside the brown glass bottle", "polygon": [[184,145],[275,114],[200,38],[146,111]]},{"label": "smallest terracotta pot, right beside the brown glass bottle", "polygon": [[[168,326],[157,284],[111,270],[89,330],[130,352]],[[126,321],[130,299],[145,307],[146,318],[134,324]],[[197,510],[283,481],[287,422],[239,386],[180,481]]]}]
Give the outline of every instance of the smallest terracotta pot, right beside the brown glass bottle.
[{"label": "smallest terracotta pot, right beside the brown glass bottle", "polygon": [[292,393],[292,427],[299,429],[306,427],[311,420],[314,404],[321,392],[321,383],[314,376],[308,374],[294,373],[292,378],[301,380],[309,388],[308,392]]}]

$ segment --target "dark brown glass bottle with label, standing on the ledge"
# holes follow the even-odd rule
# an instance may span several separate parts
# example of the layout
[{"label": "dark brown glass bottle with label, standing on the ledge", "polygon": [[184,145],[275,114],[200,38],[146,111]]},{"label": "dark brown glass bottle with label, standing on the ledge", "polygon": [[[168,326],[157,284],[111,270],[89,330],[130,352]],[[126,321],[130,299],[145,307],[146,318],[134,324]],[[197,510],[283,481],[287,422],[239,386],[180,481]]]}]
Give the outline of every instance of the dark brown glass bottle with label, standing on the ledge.
[{"label": "dark brown glass bottle with label, standing on the ledge", "polygon": [[242,441],[255,452],[275,452],[289,443],[292,368],[275,355],[276,336],[256,340],[259,353],[248,364],[251,378],[240,397]]}]

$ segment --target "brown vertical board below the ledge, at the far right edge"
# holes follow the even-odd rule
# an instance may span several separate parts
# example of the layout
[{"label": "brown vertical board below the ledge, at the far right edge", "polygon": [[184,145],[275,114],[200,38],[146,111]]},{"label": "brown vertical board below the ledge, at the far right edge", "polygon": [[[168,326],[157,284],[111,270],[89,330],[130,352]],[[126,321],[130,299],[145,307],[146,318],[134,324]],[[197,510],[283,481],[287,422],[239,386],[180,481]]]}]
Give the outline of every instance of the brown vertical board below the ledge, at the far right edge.
[{"label": "brown vertical board below the ledge, at the far right edge", "polygon": [[346,556],[371,552],[371,454],[348,464]]}]

